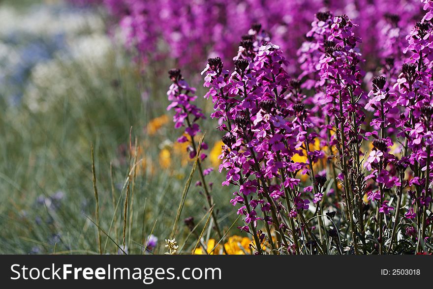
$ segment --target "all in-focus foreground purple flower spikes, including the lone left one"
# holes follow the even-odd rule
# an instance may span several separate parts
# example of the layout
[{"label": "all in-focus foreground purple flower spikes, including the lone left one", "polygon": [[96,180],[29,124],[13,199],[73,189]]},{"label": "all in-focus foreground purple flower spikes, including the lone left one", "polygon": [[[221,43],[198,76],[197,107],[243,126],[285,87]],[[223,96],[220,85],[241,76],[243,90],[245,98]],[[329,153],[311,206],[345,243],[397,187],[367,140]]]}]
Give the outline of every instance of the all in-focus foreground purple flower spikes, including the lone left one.
[{"label": "all in-focus foreground purple flower spikes, including the lone left one", "polygon": [[[371,49],[360,35],[371,32],[373,14],[358,15],[357,25],[317,12],[297,50],[299,74],[259,24],[229,64],[224,55],[208,59],[204,97],[223,134],[222,186],[233,192],[254,254],[430,250],[433,1],[422,1],[424,17],[414,12],[419,2],[403,2],[399,15],[375,4],[383,19],[371,27],[383,41]],[[188,106],[194,89],[171,74],[176,126],[189,123],[186,115],[192,128],[203,118]],[[198,131],[186,134],[193,140]]]}]

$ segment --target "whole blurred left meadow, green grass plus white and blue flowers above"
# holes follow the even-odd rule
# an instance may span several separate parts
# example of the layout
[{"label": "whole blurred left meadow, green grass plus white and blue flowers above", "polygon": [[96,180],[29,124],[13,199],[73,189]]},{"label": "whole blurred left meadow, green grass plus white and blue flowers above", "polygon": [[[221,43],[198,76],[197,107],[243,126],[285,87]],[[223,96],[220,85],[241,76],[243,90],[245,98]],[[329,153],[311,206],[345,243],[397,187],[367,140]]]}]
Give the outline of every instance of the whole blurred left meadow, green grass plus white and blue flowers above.
[{"label": "whole blurred left meadow, green grass plus white and blue flowers above", "polygon": [[[125,179],[140,160],[127,212],[125,251],[165,251],[191,163],[176,144],[165,110],[170,60],[143,73],[105,10],[60,0],[0,1],[0,253],[94,254],[91,143],[94,146],[104,253],[122,243]],[[152,73],[161,70],[164,73]],[[158,75],[158,77],[156,77]],[[162,75],[162,76],[161,76]],[[203,95],[200,90],[197,95]],[[209,115],[212,104],[198,98]],[[211,105],[209,107],[209,104]],[[210,130],[216,123],[201,124]],[[208,134],[207,166],[217,168],[218,134]],[[220,183],[216,172],[209,181]],[[206,215],[205,198],[188,192],[183,219]],[[218,216],[236,219],[231,194],[218,185]],[[204,223],[204,222],[203,222]],[[200,228],[201,230],[201,228]],[[234,227],[236,233],[238,229]],[[207,238],[212,237],[206,231]],[[152,247],[144,250],[152,236]],[[159,239],[156,241],[156,239]],[[196,240],[196,239],[195,239]],[[161,242],[162,241],[162,242]],[[186,242],[191,250],[195,241]],[[190,251],[189,251],[190,252]]]}]

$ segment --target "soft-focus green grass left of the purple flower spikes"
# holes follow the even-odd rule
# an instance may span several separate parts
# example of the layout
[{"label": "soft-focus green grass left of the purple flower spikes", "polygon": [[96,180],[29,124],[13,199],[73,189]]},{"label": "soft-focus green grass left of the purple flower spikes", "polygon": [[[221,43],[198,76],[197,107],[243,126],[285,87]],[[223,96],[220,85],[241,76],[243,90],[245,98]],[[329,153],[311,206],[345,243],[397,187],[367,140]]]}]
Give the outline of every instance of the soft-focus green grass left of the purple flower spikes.
[{"label": "soft-focus green grass left of the purple flower spikes", "polygon": [[[121,153],[119,147],[128,146],[130,130],[132,143],[137,139],[138,144],[148,144],[146,162],[152,161],[153,165],[140,170],[130,184],[129,196],[133,200],[129,200],[132,207],[127,212],[126,244],[129,253],[141,254],[144,238],[153,229],[153,234],[159,238],[155,253],[165,252],[164,238],[170,236],[191,171],[191,163],[181,167],[176,160],[169,170],[158,166],[160,144],[165,140],[175,142],[181,134],[180,130],[172,128],[171,122],[155,136],[148,136],[144,130],[147,122],[156,116],[169,114],[171,119],[170,112],[165,110],[169,80],[155,78],[151,71],[137,73],[136,64],[122,51],[107,58],[104,66],[92,74],[87,74],[82,65],[62,65],[63,73],[76,85],[56,94],[47,111],[33,112],[25,104],[9,107],[1,103],[4,108],[0,114],[2,254],[29,254],[35,250],[51,254],[55,245],[58,254],[98,252],[97,229],[91,221],[95,221],[91,143],[95,153],[100,227],[116,243],[122,244],[124,184],[132,161],[128,166],[129,152]],[[165,66],[160,69],[165,70]],[[144,90],[149,92],[148,100],[141,97]],[[47,97],[53,93],[50,87],[38,87],[38,91]],[[202,91],[198,91],[198,95],[203,95]],[[198,102],[211,107],[202,97]],[[204,125],[204,129],[211,130],[216,123],[206,121]],[[207,142],[212,145],[218,137],[215,133],[208,134]],[[116,213],[110,164],[113,166],[114,200],[119,202]],[[219,184],[222,177],[216,171],[209,180]],[[207,214],[205,199],[193,185],[196,180],[197,173],[175,234],[180,245],[188,234],[183,219],[191,215],[198,222]],[[39,196],[49,197],[59,191],[64,198],[57,209],[37,203]],[[213,193],[222,227],[227,229],[236,219],[228,202],[231,194],[226,187],[223,190],[218,185]],[[204,222],[197,231],[201,231],[203,225]],[[214,237],[214,233],[209,235],[206,231],[205,237]],[[101,239],[103,249],[107,243],[104,253],[117,254],[118,248],[112,240],[107,241],[103,232]],[[190,252],[195,242],[191,237],[185,251]]]}]

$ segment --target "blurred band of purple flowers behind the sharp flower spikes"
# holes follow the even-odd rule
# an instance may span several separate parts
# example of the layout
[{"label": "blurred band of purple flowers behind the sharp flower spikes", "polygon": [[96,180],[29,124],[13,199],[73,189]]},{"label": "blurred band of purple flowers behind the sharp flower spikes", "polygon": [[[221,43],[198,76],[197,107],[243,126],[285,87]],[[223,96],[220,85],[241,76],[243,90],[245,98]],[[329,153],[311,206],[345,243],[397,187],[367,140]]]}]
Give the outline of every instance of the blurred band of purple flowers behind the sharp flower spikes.
[{"label": "blurred band of purple flowers behind the sharp flower spikes", "polygon": [[[273,41],[284,51],[284,56],[295,64],[296,51],[304,41],[311,18],[317,11],[327,10],[346,13],[360,24],[357,33],[364,39],[365,55],[371,56],[368,66],[374,68],[377,60],[394,57],[393,53],[388,55],[389,48],[398,49],[401,36],[420,15],[418,0],[100,1],[117,19],[127,45],[136,48],[141,58],[157,61],[171,57],[179,65],[187,64],[194,68],[203,58],[216,55],[231,66],[229,60],[239,36],[257,22],[266,27],[273,35]],[[397,29],[386,20],[395,23],[389,7],[393,7],[393,13],[399,13],[401,17]],[[296,65],[286,69],[290,73],[299,71]]]}]

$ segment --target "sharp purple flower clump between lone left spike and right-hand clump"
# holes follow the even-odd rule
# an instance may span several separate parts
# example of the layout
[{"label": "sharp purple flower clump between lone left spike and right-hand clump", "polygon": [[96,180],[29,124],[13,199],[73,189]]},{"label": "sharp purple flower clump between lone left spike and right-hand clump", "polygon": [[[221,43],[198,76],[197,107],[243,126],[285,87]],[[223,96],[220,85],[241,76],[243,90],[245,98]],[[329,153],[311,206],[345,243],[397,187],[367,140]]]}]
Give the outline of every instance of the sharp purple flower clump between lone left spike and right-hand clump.
[{"label": "sharp purple flower clump between lone left spike and right-hand clump", "polygon": [[[309,150],[318,136],[309,130],[317,123],[302,103],[306,96],[300,82],[290,79],[285,70],[288,62],[279,47],[258,37],[262,35],[259,27],[253,30],[256,33],[241,42],[233,72],[223,69],[220,58],[210,58],[203,71],[204,86],[209,87],[205,97],[212,97],[214,103],[211,117],[218,118],[219,129],[226,133],[219,171],[227,172],[223,185],[238,187],[231,202],[241,204],[238,214],[245,216],[249,226],[241,229],[253,235],[256,250],[260,253],[259,239],[264,237],[256,230],[257,224],[264,221],[268,240],[268,225],[273,225],[287,250],[294,247],[299,252],[295,221],[298,226],[304,222],[300,212],[309,209],[310,201],[296,176],[299,171],[311,176],[314,202],[320,202],[326,177],[318,175],[314,180],[312,165],[324,154]],[[292,160],[304,152],[306,162]],[[289,233],[285,232],[288,228]],[[289,242],[285,234],[294,241]]]}]

